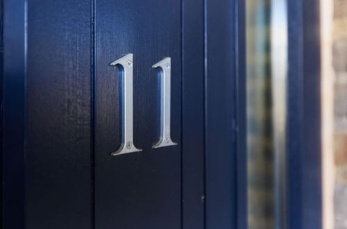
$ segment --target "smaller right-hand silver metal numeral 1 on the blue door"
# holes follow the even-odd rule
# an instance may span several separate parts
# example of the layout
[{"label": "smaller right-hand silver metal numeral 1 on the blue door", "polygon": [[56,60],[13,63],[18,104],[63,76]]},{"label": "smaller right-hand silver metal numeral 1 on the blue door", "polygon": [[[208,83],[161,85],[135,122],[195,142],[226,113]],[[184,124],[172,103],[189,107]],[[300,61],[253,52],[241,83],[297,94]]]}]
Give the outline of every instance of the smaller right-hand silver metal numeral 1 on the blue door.
[{"label": "smaller right-hand silver metal numeral 1 on the blue door", "polygon": [[160,139],[153,148],[174,146],[170,133],[171,58],[164,58],[152,66],[160,69]]}]

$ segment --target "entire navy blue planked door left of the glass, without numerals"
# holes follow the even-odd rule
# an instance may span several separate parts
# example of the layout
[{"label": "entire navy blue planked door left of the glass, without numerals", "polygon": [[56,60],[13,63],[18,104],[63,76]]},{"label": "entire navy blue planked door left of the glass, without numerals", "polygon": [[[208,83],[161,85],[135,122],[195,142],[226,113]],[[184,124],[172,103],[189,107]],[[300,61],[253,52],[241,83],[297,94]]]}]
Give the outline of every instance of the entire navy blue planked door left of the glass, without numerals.
[{"label": "entire navy blue planked door left of the glass, without numerals", "polygon": [[[235,206],[244,203],[235,198],[244,144],[234,131],[244,61],[238,67],[233,35],[242,3],[1,3],[3,228],[235,227]],[[142,151],[112,155],[123,137],[123,89],[110,63],[128,53],[133,143]],[[160,76],[152,66],[167,57],[177,144],[154,149]]]}]

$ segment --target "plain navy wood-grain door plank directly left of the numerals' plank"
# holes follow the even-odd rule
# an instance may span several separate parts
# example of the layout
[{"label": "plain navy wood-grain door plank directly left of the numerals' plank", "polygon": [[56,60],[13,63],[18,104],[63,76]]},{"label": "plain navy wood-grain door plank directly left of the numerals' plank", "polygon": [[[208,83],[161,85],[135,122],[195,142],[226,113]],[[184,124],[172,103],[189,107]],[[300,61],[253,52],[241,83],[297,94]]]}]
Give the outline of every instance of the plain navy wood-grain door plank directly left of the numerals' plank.
[{"label": "plain navy wood-grain door plank directly left of the numerals' plank", "polygon": [[28,1],[26,229],[90,228],[90,7]]}]

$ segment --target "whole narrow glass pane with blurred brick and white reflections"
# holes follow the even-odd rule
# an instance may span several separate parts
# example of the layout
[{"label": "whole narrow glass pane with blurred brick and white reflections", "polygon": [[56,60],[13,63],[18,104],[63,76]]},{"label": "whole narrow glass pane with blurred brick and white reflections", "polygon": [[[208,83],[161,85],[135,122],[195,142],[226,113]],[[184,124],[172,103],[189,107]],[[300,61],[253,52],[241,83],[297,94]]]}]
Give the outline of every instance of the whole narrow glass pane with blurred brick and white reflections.
[{"label": "whole narrow glass pane with blurred brick and white reflections", "polygon": [[247,1],[248,228],[286,228],[285,0]]}]

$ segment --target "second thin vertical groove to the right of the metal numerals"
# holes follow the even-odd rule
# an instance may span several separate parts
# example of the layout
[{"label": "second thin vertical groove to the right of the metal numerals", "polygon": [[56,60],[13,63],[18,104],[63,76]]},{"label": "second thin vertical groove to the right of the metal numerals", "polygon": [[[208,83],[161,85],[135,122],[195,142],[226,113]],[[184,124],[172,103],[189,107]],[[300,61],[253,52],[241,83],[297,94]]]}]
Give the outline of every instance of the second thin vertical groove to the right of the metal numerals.
[{"label": "second thin vertical groove to the right of the metal numerals", "polygon": [[203,115],[203,193],[204,193],[204,205],[203,205],[203,226],[207,228],[207,203],[208,196],[206,192],[207,180],[206,180],[206,162],[207,162],[207,130],[208,130],[208,0],[203,0],[203,60],[204,60],[204,115]]}]

